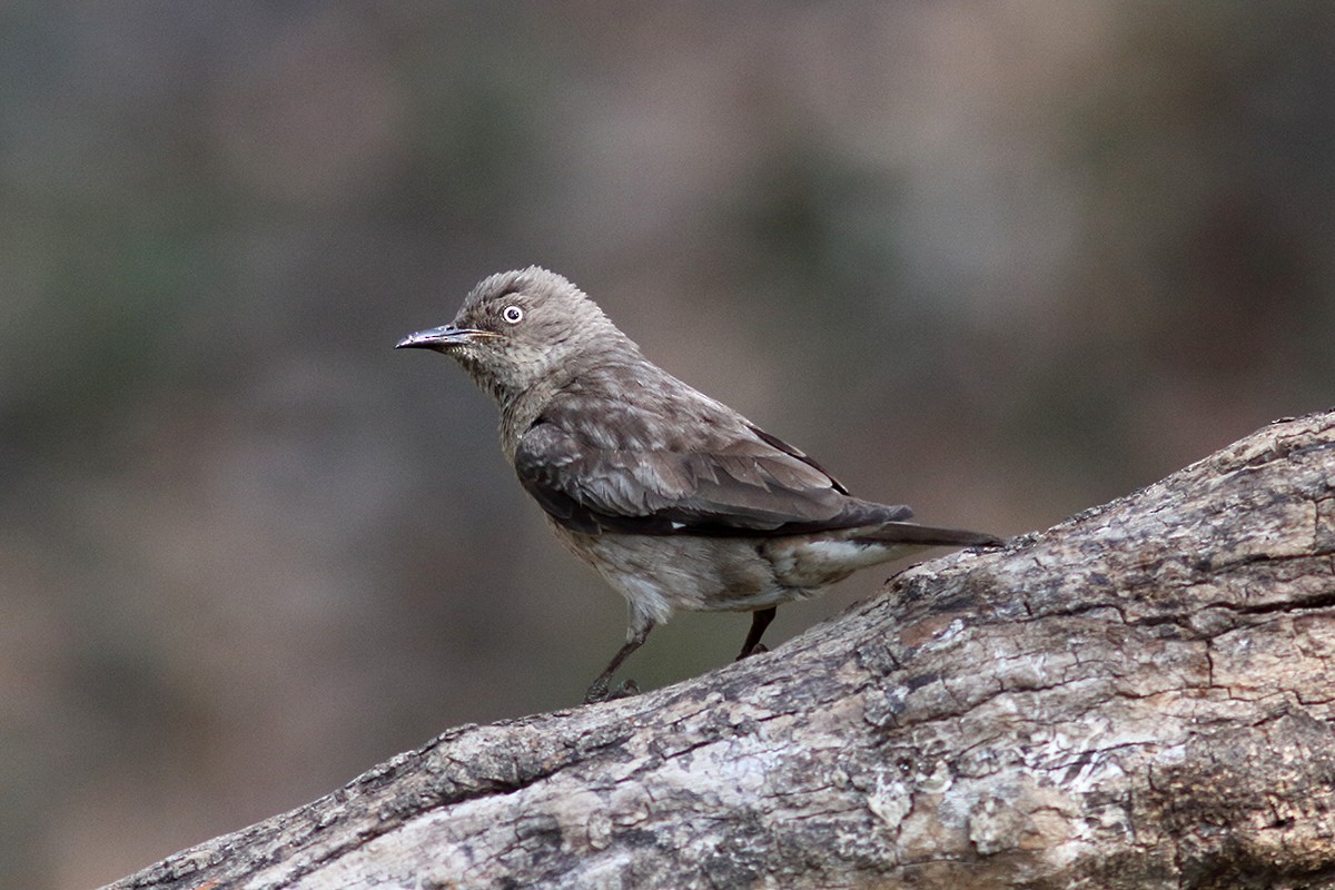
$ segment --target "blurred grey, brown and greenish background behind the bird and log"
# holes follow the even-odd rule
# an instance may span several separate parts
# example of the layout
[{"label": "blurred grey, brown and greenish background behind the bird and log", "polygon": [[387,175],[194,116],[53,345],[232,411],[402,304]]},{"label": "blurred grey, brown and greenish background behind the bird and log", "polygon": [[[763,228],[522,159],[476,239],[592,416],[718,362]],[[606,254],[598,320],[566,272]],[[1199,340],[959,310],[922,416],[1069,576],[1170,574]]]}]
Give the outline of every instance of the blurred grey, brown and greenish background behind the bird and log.
[{"label": "blurred grey, brown and greenish background behind the bird and log", "polygon": [[0,885],[579,702],[619,598],[391,348],[490,272],[940,524],[1335,404],[1332,59],[1322,3],[4,4]]}]

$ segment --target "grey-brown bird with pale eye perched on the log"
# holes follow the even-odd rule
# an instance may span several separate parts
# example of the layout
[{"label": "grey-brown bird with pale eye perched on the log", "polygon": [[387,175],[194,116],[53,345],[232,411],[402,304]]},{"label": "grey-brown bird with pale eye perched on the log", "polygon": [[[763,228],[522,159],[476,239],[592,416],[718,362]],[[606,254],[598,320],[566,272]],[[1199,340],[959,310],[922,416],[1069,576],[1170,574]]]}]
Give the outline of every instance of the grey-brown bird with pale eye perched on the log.
[{"label": "grey-brown bird with pale eye perched on the log", "polygon": [[926,547],[993,535],[909,522],[849,494],[820,463],[645,358],[575,284],[499,272],[449,324],[395,348],[442,352],[499,407],[501,450],[562,543],[629,604],[626,642],[585,702],[676,610],[752,612],[738,660],[780,604]]}]

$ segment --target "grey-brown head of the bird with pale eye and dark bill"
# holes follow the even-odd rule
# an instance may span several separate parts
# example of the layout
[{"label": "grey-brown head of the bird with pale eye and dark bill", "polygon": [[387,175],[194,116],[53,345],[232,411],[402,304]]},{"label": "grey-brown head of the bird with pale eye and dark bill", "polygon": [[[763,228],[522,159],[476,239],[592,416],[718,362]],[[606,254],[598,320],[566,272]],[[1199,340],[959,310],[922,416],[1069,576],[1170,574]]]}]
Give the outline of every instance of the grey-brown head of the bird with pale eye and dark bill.
[{"label": "grey-brown head of the bird with pale eye and dark bill", "polygon": [[638,352],[583,291],[537,266],[485,279],[454,322],[410,334],[395,348],[445,352],[501,404],[561,386],[602,355]]}]

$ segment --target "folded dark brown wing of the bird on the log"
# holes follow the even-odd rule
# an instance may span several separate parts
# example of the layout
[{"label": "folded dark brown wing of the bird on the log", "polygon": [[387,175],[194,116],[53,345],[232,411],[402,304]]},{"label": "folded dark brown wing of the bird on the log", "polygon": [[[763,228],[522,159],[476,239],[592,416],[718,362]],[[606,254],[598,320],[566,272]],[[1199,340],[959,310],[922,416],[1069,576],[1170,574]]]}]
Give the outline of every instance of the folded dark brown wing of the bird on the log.
[{"label": "folded dark brown wing of the bird on the log", "polygon": [[801,451],[724,411],[672,435],[547,412],[521,438],[515,471],[553,519],[585,534],[764,536],[912,515],[850,498]]}]

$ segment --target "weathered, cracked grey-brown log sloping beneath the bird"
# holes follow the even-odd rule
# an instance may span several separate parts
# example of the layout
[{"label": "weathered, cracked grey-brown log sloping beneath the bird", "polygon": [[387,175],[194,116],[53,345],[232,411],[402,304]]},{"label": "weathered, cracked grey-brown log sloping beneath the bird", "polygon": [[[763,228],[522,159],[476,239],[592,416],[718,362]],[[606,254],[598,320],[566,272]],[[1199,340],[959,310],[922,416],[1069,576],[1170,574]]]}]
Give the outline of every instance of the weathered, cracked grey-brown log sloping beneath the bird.
[{"label": "weathered, cracked grey-brown log sloping beneath the bird", "polygon": [[1335,887],[1335,412],[112,887]]}]

